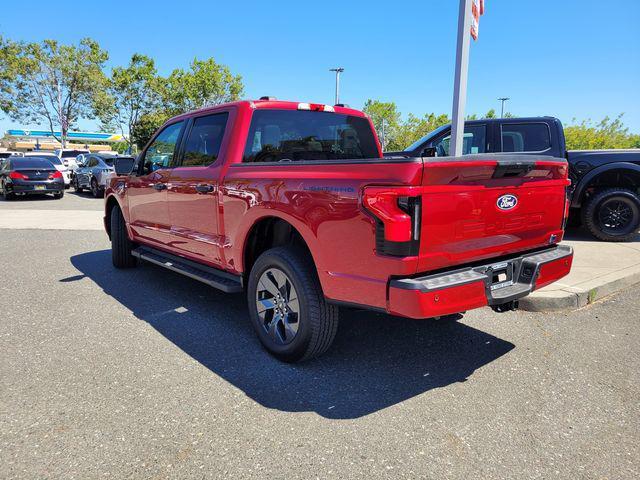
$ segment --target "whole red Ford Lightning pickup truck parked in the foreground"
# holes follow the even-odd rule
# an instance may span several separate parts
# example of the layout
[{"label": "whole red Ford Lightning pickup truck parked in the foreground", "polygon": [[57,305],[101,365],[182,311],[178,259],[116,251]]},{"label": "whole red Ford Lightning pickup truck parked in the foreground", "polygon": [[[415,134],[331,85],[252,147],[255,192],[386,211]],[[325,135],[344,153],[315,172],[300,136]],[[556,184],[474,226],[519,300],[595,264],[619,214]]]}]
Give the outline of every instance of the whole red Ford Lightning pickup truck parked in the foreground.
[{"label": "whole red Ford Lightning pickup truck parked in the foreground", "polygon": [[292,362],[327,350],[341,305],[504,311],[565,276],[567,174],[545,156],[384,158],[360,111],[263,98],[169,120],[116,165],[104,221],[117,268],[245,291],[261,342]]}]

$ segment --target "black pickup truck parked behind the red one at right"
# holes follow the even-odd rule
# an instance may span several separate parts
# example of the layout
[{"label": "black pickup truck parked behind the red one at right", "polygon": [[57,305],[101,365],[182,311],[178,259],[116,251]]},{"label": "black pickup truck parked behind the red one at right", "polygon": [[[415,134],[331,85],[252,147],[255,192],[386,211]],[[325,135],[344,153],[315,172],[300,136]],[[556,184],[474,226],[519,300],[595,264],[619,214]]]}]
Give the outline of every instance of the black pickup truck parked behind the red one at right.
[{"label": "black pickup truck parked behind the red one at right", "polygon": [[[422,137],[402,152],[385,156],[449,155],[450,125]],[[619,242],[640,228],[640,149],[567,151],[554,117],[497,118],[465,122],[463,153],[514,153],[564,157],[571,178],[572,224],[596,238]]]}]

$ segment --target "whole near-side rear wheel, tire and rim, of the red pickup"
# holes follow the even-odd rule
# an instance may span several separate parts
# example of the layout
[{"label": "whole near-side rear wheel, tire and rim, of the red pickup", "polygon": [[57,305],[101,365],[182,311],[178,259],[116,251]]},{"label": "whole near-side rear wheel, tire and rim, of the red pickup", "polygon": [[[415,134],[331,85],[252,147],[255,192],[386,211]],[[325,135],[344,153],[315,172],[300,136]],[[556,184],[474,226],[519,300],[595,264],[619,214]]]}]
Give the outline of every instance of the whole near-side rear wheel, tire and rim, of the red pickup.
[{"label": "whole near-side rear wheel, tire and rim, of the red pickup", "polygon": [[325,300],[315,266],[302,251],[278,247],[260,255],[247,299],[258,338],[276,358],[307,360],[331,346],[338,308]]}]

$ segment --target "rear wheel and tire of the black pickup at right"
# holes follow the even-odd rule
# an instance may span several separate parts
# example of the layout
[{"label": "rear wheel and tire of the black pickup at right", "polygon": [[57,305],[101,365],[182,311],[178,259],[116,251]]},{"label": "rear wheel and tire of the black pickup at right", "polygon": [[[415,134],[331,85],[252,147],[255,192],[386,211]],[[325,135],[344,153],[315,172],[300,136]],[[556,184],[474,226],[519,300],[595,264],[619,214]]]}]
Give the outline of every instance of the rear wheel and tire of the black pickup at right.
[{"label": "rear wheel and tire of the black pickup at right", "polygon": [[631,240],[640,229],[640,197],[624,188],[602,190],[583,206],[582,223],[599,240]]}]

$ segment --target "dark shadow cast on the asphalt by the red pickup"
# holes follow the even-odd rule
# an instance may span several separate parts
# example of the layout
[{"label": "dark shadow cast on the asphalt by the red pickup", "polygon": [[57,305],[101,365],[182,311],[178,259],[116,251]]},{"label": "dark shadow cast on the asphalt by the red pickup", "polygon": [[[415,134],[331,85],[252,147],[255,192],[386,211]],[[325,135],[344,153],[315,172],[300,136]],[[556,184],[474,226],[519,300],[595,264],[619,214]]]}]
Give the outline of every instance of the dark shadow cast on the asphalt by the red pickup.
[{"label": "dark shadow cast on the asphalt by the red pickup", "polygon": [[285,412],[361,417],[464,382],[514,348],[451,320],[344,310],[336,341],[324,356],[288,365],[261,348],[244,295],[224,294],[144,263],[116,270],[110,250],[76,255],[71,263],[213,373],[260,405]]}]

